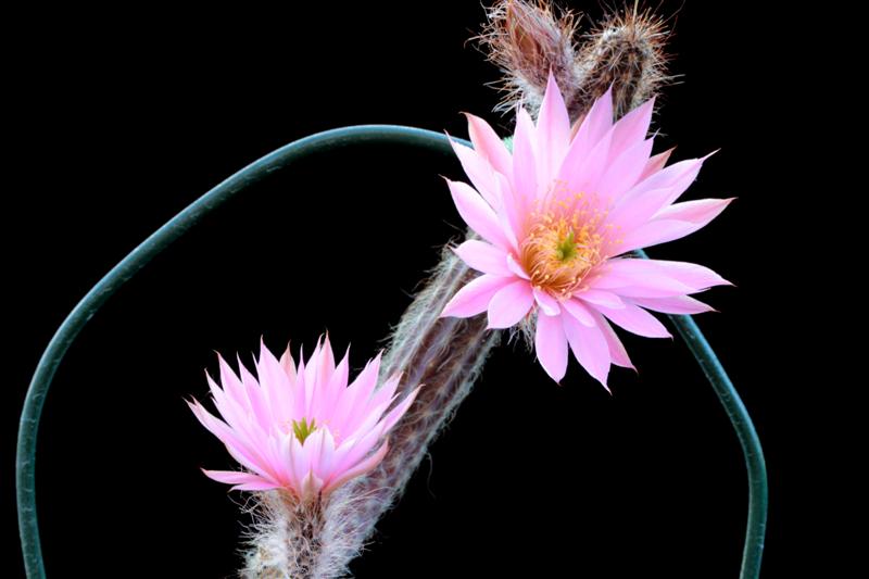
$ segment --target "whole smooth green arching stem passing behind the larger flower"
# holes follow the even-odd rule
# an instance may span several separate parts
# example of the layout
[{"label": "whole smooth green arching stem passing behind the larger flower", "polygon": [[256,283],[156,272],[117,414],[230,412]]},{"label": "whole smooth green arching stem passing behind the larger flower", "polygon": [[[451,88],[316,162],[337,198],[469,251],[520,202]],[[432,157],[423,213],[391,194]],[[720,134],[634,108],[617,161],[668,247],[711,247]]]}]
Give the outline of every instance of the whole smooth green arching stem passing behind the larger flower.
[{"label": "whole smooth green arching stem passing behind the larger flower", "polygon": [[[88,320],[127,280],[156,254],[169,247],[202,217],[237,193],[310,154],[365,143],[398,143],[424,147],[451,154],[446,137],[440,133],[393,125],[344,127],[293,141],[248,165],[191,203],[178,215],[146,239],[103,277],[75,306],[61,324],[42,353],[24,401],[18,428],[15,476],[18,505],[18,529],[27,577],[46,577],[39,542],[36,513],[36,437],[42,405],[70,345]],[[469,144],[465,142],[465,144]],[[645,254],[642,254],[645,256]],[[748,466],[748,531],[743,554],[742,579],[755,579],[760,569],[767,511],[767,482],[763,451],[745,406],[742,404],[725,369],[690,316],[670,316],[688,343],[706,377],[711,382],[736,430]]]}]

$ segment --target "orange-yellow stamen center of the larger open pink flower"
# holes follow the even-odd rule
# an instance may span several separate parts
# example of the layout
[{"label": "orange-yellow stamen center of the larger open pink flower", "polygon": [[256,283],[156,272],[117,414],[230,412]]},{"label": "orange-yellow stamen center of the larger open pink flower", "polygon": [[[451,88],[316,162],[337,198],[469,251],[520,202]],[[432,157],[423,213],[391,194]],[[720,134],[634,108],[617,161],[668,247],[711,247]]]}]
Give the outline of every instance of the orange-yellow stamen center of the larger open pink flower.
[{"label": "orange-yellow stamen center of the larger open pink flower", "polygon": [[546,212],[530,226],[519,248],[519,259],[531,285],[567,300],[585,274],[601,260],[600,218],[587,219],[582,211]]}]

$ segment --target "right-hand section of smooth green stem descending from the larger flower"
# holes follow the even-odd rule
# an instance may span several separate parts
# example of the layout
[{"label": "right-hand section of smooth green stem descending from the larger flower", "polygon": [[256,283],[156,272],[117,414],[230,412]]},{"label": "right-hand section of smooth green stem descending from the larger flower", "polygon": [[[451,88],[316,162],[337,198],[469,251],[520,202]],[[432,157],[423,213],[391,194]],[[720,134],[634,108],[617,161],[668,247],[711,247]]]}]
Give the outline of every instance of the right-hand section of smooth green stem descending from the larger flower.
[{"label": "right-hand section of smooth green stem descending from the larger flower", "polygon": [[[648,259],[644,251],[635,252],[643,259]],[[742,551],[741,579],[757,579],[760,576],[760,561],[764,556],[764,537],[767,528],[767,466],[764,462],[764,449],[754,428],[748,411],[742,403],[733,382],[730,381],[725,367],[718,361],[709,342],[703,336],[697,324],[691,316],[671,315],[669,318],[676,325],[679,336],[688,344],[694,358],[713,385],[718,400],[725,407],[730,424],[736,431],[736,437],[742,445],[745,456],[745,466],[748,470],[748,526],[745,531],[745,546]]]}]

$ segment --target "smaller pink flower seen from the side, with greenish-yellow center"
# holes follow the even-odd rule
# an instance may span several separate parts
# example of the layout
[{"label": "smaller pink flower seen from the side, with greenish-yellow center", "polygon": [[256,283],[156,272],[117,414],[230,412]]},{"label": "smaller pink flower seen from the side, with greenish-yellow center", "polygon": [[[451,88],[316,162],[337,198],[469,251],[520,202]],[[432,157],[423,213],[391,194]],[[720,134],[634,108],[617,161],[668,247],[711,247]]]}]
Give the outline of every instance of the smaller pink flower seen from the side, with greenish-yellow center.
[{"label": "smaller pink flower seen from the side, with greenish-yellow center", "polygon": [[381,439],[418,390],[383,416],[398,398],[400,376],[376,388],[378,354],[348,386],[348,355],[336,366],[328,337],[325,343],[317,343],[306,365],[300,353],[298,368],[289,349],[278,361],[261,343],[257,378],[240,361],[239,378],[218,360],[223,388],[205,376],[225,421],[196,400],[188,404],[202,426],[226,444],[247,470],[203,471],[234,484],[232,490],[286,489],[303,501],[325,498],[377,466],[389,448]]}]

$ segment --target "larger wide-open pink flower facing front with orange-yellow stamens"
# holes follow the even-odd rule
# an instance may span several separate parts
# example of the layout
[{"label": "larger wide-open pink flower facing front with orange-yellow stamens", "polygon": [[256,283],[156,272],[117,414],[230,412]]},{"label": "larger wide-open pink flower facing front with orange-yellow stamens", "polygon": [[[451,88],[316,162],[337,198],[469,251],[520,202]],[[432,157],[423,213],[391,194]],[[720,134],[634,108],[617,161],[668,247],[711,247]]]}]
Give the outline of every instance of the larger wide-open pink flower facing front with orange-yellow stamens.
[{"label": "larger wide-open pink flower facing front with orange-yellow stamens", "polygon": [[518,111],[512,153],[484,121],[468,115],[474,149],[453,148],[476,190],[448,182],[459,215],[482,238],[455,252],[482,275],[442,315],[488,311],[490,328],[507,328],[536,314],[534,349],[546,373],[564,377],[569,345],[606,388],[610,363],[633,367],[610,323],[662,338],[670,335],[647,310],[711,310],[689,294],[728,284],[716,273],[627,255],[696,231],[732,201],[675,203],[706,158],[665,167],[670,151],[650,156],[653,105],[613,123],[607,91],[571,130],[550,75],[537,126]]}]

